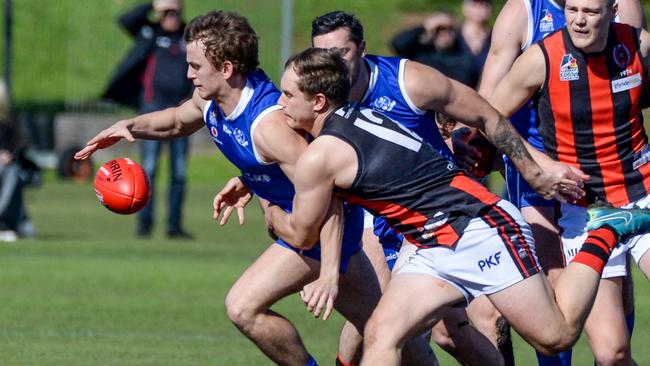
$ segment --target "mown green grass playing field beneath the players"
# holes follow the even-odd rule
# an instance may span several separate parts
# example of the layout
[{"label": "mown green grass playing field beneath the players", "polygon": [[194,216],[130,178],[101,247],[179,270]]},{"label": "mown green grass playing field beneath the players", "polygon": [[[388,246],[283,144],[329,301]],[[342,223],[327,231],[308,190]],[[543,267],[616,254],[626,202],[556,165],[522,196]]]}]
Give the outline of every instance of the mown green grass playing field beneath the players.
[{"label": "mown green grass playing field beneath the players", "polygon": [[[0,365],[271,364],[223,306],[228,288],[270,243],[257,207],[245,227],[212,220],[213,195],[234,173],[214,155],[192,157],[185,206],[192,242],[166,239],[164,225],[151,240],[134,239],[135,218],[103,208],[89,183],[48,176],[28,190],[38,240],[0,245]],[[637,271],[635,279],[633,353],[648,365],[650,285]],[[333,364],[339,316],[314,320],[297,296],[274,309],[297,325],[321,365]],[[589,365],[581,342],[574,365]],[[530,347],[518,340],[515,348],[519,365],[535,364]],[[456,364],[437,354],[443,365]]]}]

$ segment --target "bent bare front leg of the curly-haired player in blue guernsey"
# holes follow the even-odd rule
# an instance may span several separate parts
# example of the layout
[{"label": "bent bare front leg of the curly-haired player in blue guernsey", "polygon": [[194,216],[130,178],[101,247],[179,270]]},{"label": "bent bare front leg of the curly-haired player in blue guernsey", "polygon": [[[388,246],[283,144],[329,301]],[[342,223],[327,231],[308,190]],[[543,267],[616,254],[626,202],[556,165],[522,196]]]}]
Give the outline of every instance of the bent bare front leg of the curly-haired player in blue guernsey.
[{"label": "bent bare front leg of the curly-haired player in blue guernsey", "polygon": [[310,355],[296,328],[270,307],[315,280],[319,265],[273,244],[228,292],[226,311],[230,320],[277,364],[304,366]]}]

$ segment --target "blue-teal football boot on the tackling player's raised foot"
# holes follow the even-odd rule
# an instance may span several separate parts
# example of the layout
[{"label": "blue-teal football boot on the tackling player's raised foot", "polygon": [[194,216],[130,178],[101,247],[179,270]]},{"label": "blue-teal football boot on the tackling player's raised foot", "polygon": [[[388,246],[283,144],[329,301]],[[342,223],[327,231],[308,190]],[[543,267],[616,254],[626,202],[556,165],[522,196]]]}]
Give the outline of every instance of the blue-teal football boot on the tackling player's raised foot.
[{"label": "blue-teal football boot on the tackling player's raised foot", "polygon": [[596,206],[587,210],[587,230],[607,226],[618,234],[619,243],[632,236],[650,232],[650,210]]}]

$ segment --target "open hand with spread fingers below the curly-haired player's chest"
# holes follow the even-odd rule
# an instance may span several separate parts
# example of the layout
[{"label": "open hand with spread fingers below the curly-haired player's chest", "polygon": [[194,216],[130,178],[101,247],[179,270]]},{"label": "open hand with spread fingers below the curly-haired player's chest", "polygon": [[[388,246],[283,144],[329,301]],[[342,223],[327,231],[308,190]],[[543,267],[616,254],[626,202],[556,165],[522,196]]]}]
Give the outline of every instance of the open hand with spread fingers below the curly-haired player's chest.
[{"label": "open hand with spread fingers below the curly-haired player's chest", "polygon": [[242,182],[239,177],[231,178],[226,185],[214,196],[212,201],[212,218],[217,220],[223,212],[219,225],[223,226],[228,222],[232,212],[237,209],[239,225],[244,225],[244,207],[253,199],[253,193]]}]

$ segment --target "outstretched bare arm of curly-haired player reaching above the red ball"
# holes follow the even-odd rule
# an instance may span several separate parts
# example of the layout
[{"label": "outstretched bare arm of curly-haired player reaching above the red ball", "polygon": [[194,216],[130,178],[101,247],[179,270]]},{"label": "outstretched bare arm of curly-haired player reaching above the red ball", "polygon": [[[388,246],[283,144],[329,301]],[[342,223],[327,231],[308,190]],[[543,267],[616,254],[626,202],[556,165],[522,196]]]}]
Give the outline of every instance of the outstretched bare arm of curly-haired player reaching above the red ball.
[{"label": "outstretched bare arm of curly-haired player reaching above the red ball", "polygon": [[86,159],[95,151],[108,148],[122,139],[134,142],[135,139],[162,140],[191,135],[203,125],[205,104],[206,101],[194,92],[192,99],[178,107],[118,121],[90,139],[75,154],[75,159]]}]

